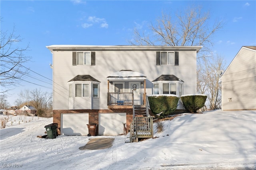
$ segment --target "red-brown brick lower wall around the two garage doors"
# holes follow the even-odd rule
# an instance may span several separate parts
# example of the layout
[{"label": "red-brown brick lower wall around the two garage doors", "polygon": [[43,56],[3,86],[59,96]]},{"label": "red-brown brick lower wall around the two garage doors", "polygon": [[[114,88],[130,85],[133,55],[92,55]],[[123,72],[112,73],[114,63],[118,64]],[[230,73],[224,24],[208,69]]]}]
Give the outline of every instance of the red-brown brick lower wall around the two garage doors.
[{"label": "red-brown brick lower wall around the two garage doors", "polygon": [[[60,132],[61,126],[61,114],[63,113],[89,113],[89,124],[99,124],[99,114],[100,113],[126,113],[126,128],[130,130],[130,123],[132,122],[132,109],[84,109],[84,110],[54,110],[53,111],[53,123],[58,123],[58,134]],[[96,134],[98,134],[98,128],[96,129]]]}]

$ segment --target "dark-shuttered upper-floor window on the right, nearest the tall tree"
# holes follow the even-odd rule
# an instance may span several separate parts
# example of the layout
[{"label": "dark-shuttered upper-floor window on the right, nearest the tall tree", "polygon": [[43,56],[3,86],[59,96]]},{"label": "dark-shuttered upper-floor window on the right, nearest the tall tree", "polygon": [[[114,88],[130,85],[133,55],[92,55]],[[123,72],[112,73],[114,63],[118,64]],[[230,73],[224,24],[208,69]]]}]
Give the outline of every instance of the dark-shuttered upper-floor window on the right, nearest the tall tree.
[{"label": "dark-shuttered upper-floor window on the right, nearest the tall tree", "polygon": [[156,51],[156,65],[179,65],[179,52]]}]

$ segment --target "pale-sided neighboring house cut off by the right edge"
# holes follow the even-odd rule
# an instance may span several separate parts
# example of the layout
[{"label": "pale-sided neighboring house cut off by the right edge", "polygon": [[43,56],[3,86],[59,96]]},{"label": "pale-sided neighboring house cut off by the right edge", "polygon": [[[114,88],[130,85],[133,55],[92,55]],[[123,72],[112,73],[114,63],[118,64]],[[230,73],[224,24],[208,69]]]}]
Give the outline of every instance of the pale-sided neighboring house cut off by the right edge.
[{"label": "pale-sided neighboring house cut off by the right edge", "polygon": [[221,76],[222,110],[256,110],[256,46],[243,46]]}]

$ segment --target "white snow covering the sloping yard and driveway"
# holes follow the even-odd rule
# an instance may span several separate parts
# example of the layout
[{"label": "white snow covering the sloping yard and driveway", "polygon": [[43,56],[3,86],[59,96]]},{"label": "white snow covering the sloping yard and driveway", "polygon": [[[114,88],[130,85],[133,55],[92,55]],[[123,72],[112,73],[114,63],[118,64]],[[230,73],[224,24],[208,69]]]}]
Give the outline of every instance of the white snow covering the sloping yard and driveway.
[{"label": "white snow covering the sloping yard and driveway", "polygon": [[[256,169],[256,111],[183,114],[164,121],[156,138],[134,143],[125,143],[127,136],[36,137],[52,121],[27,120],[1,129],[0,169]],[[113,146],[79,150],[89,138],[102,137],[115,138]]]}]

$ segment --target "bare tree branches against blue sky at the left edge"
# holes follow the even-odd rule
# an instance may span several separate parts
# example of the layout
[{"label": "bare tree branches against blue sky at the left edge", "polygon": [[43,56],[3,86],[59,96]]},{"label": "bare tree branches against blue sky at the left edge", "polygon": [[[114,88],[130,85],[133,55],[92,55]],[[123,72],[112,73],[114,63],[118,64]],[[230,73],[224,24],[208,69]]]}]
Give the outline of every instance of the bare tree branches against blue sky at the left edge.
[{"label": "bare tree branches against blue sky at the left edge", "polygon": [[15,27],[9,34],[0,30],[0,93],[4,94],[20,85],[22,76],[28,73],[23,64],[31,59],[24,55],[29,47],[19,47],[22,39],[15,36],[14,32]]}]

